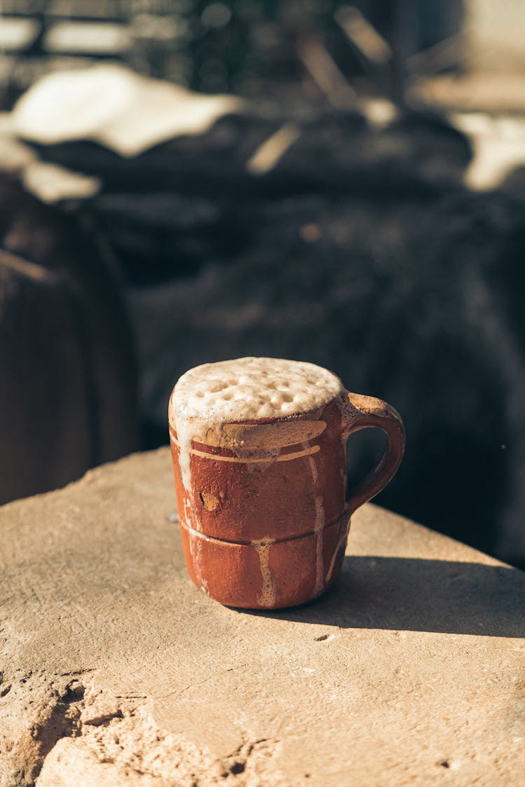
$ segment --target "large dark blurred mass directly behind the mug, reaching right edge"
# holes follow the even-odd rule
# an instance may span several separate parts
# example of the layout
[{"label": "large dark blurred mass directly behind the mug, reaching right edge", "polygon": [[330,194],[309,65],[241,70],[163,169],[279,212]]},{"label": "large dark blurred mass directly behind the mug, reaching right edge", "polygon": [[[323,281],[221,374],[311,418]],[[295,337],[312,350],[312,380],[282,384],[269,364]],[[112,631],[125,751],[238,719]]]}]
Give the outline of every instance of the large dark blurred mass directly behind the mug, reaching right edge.
[{"label": "large dark blurred mass directly behind the mug, reaching right edge", "polygon": [[[417,114],[293,120],[295,141],[254,174],[283,122],[225,116],[132,161],[39,149],[105,183],[81,212],[127,273],[143,445],[166,442],[189,367],[311,360],[406,420],[406,459],[377,502],[525,565],[525,193],[468,191],[467,139]],[[355,435],[351,476],[379,450]]]}]

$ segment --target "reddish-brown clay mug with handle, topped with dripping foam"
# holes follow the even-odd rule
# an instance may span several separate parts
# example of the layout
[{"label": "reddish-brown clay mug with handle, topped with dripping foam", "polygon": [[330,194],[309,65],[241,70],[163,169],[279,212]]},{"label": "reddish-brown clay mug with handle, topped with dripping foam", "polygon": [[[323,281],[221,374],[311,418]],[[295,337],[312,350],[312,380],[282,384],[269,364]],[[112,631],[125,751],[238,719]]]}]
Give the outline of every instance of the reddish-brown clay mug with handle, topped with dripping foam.
[{"label": "reddish-brown clay mug with handle, topped with dripping foam", "polygon": [[[296,364],[291,368],[300,367],[300,374],[307,370],[307,382],[299,375],[302,394],[296,397],[297,405],[287,404],[294,397],[285,377],[283,385],[288,388],[281,385],[277,390],[274,383],[273,394],[280,402],[277,408],[285,412],[268,415],[276,408],[268,401],[274,389],[266,385],[266,398],[259,392],[255,397],[255,380],[262,381],[258,361],[270,369],[270,377],[272,363]],[[221,377],[224,364],[206,364],[186,373],[190,378],[200,375],[201,381],[210,376],[204,393],[201,382],[193,383],[190,397],[193,402],[196,397],[210,401],[209,412],[203,405],[200,416],[193,416],[190,400],[178,401],[186,375],[170,397],[171,452],[185,563],[196,586],[222,604],[252,609],[303,604],[336,581],[351,514],[395,474],[405,431],[394,408],[380,399],[348,393],[340,379],[325,369],[275,359],[225,363],[242,370],[243,362],[255,369],[248,375],[250,385],[242,388],[263,402],[255,409],[246,409],[246,394],[244,399],[238,397],[242,375],[237,374],[232,386],[226,385],[231,380]],[[314,389],[316,373],[328,383],[323,395]],[[214,420],[216,397],[222,397],[222,407],[229,397],[227,419],[222,413]],[[239,398],[240,415],[259,411],[266,415],[237,419],[233,397]],[[303,408],[301,401],[313,402],[314,407]],[[376,467],[347,495],[347,438],[366,427],[386,432],[387,445]]]}]

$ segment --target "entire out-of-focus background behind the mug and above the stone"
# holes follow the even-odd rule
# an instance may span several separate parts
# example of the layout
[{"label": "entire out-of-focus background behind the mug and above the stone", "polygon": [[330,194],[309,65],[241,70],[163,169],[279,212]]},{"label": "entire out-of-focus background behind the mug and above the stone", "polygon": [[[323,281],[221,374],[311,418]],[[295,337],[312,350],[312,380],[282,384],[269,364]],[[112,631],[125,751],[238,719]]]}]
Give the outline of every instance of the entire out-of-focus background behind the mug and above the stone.
[{"label": "entire out-of-focus background behind the mug and above the stone", "polygon": [[0,502],[166,444],[188,368],[289,357],[402,413],[378,503],[525,567],[523,32],[518,0],[2,0]]}]

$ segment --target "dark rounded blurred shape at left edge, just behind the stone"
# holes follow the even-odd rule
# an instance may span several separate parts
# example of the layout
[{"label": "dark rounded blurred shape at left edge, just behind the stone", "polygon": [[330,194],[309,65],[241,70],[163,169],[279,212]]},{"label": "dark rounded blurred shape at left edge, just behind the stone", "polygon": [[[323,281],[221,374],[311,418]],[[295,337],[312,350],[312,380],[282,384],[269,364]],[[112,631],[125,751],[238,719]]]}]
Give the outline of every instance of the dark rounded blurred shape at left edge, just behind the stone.
[{"label": "dark rounded blurred shape at left edge, just behind the stone", "polygon": [[0,503],[138,445],[133,342],[112,272],[73,216],[0,180]]}]

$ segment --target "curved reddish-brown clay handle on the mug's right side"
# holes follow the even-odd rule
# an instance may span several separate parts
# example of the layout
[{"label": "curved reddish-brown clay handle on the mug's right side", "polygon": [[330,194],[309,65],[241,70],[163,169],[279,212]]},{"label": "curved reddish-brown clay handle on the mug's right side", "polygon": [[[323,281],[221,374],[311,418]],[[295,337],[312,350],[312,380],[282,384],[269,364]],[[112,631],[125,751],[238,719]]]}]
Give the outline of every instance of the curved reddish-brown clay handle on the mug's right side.
[{"label": "curved reddish-brown clay handle on the mug's right side", "polygon": [[405,427],[401,416],[386,401],[360,393],[347,393],[350,407],[343,427],[343,439],[360,429],[375,427],[387,434],[387,445],[379,462],[348,493],[349,515],[360,505],[375,497],[395,475],[405,453]]}]

